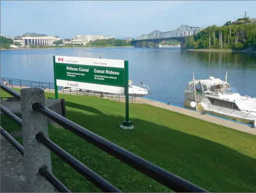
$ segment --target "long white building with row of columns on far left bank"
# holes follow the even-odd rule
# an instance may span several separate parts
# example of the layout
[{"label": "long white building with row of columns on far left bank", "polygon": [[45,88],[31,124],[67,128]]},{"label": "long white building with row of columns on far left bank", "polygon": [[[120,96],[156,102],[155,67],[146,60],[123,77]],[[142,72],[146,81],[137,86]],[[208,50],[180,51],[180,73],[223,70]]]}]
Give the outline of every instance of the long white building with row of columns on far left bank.
[{"label": "long white building with row of columns on far left bank", "polygon": [[26,36],[22,37],[22,41],[24,46],[54,46],[54,41],[61,40],[58,37],[55,36],[40,36],[40,37],[31,37]]}]

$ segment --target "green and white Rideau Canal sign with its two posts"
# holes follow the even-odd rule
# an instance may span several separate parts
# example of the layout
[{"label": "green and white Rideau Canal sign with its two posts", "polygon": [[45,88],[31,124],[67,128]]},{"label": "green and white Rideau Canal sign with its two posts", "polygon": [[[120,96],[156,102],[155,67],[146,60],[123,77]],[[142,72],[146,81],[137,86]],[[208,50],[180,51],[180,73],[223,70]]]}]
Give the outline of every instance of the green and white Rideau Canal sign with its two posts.
[{"label": "green and white Rideau Canal sign with its two posts", "polygon": [[54,56],[55,98],[58,87],[125,94],[125,121],[121,129],[133,129],[129,120],[128,61],[101,58]]}]

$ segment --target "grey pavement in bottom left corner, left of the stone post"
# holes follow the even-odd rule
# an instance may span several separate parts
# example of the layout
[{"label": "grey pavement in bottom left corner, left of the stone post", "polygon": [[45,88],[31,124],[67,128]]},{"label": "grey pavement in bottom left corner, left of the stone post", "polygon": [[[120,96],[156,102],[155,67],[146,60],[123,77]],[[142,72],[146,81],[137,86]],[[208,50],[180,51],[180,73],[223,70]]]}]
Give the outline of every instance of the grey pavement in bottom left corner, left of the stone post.
[{"label": "grey pavement in bottom left corner, left of the stone post", "polygon": [[23,156],[1,135],[1,193],[24,193],[26,191]]}]

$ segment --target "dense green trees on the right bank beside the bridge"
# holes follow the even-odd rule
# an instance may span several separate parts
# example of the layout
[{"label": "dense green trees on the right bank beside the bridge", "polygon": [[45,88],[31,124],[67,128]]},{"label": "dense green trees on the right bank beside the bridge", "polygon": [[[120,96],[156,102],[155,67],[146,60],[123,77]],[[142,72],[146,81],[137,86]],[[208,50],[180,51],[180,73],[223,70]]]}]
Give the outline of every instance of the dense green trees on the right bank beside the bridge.
[{"label": "dense green trees on the right bank beside the bridge", "polygon": [[212,25],[185,40],[187,48],[243,50],[256,46],[256,23]]}]

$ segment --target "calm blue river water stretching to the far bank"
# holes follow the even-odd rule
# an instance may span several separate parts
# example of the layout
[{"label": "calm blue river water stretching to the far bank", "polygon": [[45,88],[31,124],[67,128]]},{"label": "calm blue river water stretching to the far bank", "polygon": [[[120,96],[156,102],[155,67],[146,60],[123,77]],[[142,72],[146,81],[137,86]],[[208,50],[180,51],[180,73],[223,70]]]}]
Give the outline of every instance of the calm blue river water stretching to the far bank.
[{"label": "calm blue river water stretching to the far bank", "polygon": [[181,105],[187,83],[225,79],[241,94],[256,97],[256,54],[191,52],[180,48],[70,48],[0,51],[1,77],[54,82],[53,56],[124,59],[134,85],[150,86],[146,98]]}]

